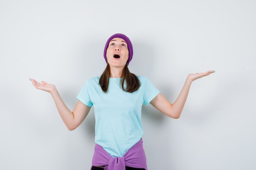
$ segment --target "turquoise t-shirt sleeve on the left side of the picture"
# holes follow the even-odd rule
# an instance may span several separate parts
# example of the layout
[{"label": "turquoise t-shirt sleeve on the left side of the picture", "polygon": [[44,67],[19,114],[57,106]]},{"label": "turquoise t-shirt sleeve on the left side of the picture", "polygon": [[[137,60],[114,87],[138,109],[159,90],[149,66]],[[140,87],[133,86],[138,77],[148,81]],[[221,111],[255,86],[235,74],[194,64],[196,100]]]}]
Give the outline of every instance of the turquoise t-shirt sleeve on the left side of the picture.
[{"label": "turquoise t-shirt sleeve on the left side of the picture", "polygon": [[85,82],[83,87],[81,88],[80,92],[78,93],[76,99],[79,99],[83,104],[86,106],[92,107],[92,101],[90,99],[90,94],[89,94],[89,82]]}]

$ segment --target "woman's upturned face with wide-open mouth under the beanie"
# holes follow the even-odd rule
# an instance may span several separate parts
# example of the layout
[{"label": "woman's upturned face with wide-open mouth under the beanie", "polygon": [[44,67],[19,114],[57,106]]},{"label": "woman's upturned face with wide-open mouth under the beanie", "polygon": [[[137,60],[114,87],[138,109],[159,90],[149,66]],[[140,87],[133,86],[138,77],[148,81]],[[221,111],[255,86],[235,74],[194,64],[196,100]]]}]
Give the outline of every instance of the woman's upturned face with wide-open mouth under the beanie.
[{"label": "woman's upturned face with wide-open mouth under the beanie", "polygon": [[122,38],[113,38],[106,52],[108,64],[113,67],[124,67],[129,58],[127,43]]}]

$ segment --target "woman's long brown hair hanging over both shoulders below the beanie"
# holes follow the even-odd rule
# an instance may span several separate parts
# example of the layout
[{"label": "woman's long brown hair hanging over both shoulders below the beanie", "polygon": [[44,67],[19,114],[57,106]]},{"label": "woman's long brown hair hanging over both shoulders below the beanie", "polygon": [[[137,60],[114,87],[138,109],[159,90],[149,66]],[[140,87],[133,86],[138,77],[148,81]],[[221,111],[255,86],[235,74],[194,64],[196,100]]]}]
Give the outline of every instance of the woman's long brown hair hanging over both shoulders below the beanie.
[{"label": "woman's long brown hair hanging over both shoulders below the beanie", "polygon": [[[99,84],[104,93],[108,91],[108,80],[110,77],[110,66],[107,64],[105,70],[103,71],[101,77],[99,78]],[[121,74],[120,85],[122,89],[126,92],[133,93],[137,91],[140,87],[140,82],[138,77],[131,73],[128,69],[128,65],[124,66],[123,72]]]}]

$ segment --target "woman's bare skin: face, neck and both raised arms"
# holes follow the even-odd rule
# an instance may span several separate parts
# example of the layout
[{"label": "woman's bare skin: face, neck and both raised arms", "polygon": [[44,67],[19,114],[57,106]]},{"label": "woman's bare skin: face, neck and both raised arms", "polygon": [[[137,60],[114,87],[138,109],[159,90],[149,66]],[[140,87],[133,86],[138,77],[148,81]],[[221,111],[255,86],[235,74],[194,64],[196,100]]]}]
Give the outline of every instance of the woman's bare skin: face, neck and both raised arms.
[{"label": "woman's bare skin: face, neck and both raised arms", "polygon": [[[113,57],[115,53],[119,54],[119,59]],[[110,77],[119,78],[129,57],[129,51],[126,42],[121,38],[112,39],[109,43],[106,56],[108,64],[110,65]],[[189,89],[192,82],[214,72],[215,71],[212,70],[206,71],[204,73],[189,74],[186,78],[182,90],[180,91],[180,94],[173,104],[160,93],[150,102],[150,104],[152,104],[156,109],[165,115],[177,119],[182,113],[186,99],[189,95]],[[67,126],[68,130],[76,129],[90,112],[91,107],[86,106],[80,101],[77,102],[74,110],[71,111],[69,108],[67,108],[53,84],[48,84],[44,81],[39,83],[34,79],[30,80],[37,89],[46,91],[52,95],[58,109],[58,113],[61,115],[61,118]]]}]

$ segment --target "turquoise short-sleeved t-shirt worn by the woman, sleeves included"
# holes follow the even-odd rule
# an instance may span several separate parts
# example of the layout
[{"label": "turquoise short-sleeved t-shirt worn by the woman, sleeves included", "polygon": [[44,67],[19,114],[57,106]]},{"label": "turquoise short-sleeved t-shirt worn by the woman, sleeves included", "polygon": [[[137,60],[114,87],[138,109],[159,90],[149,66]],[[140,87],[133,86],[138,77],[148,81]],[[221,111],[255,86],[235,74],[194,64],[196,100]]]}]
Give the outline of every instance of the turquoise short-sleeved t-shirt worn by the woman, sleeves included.
[{"label": "turquoise short-sleeved t-shirt worn by the woman, sleeves included", "polygon": [[101,90],[99,77],[88,79],[77,99],[94,106],[95,142],[112,157],[123,157],[142,137],[141,106],[148,105],[159,91],[144,76],[133,93],[125,92],[120,78],[109,78],[107,93]]}]

